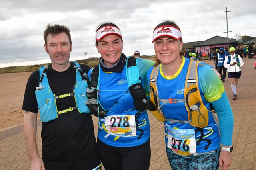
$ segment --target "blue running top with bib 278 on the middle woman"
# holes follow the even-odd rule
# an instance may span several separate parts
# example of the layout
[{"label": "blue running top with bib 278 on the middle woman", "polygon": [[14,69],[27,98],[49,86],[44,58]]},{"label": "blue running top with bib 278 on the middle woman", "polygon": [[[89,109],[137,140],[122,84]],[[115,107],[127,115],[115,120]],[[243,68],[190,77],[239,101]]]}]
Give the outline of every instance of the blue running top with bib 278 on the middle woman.
[{"label": "blue running top with bib 278 on the middle woman", "polygon": [[139,70],[151,65],[144,59],[127,58],[122,72],[104,72],[99,66],[88,72],[91,86],[97,89],[98,105],[107,113],[99,117],[98,139],[118,147],[138,146],[150,137],[148,115],[142,102],[146,95]]}]

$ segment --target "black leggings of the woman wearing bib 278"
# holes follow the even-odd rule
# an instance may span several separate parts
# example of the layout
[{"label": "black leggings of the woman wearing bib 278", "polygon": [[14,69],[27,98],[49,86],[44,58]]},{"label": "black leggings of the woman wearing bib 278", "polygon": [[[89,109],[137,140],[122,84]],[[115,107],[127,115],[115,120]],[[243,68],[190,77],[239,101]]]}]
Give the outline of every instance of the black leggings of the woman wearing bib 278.
[{"label": "black leggings of the woman wearing bib 278", "polygon": [[150,139],[135,147],[113,147],[98,139],[98,153],[106,170],[148,170]]}]

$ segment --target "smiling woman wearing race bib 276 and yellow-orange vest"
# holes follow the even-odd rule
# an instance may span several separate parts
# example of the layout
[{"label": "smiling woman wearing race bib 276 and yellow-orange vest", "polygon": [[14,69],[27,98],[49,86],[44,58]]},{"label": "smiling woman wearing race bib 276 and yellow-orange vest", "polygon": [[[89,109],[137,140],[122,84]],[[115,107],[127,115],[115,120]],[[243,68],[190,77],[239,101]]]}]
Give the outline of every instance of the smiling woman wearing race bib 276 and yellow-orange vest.
[{"label": "smiling woman wearing race bib 276 and yellow-orange vest", "polygon": [[[222,82],[206,64],[201,63],[197,67],[198,90],[202,98],[200,104],[208,109],[210,105],[215,108],[219,126],[214,115],[207,109],[206,125],[193,126],[188,121],[184,88],[190,62],[195,61],[186,59],[179,53],[183,41],[178,25],[173,21],[158,24],[153,32],[152,43],[157,61],[147,74],[151,89],[150,98],[156,106],[158,106],[157,102],[161,106],[158,109],[164,116],[162,121],[164,121],[166,152],[172,169],[216,170],[220,165],[226,170],[232,163],[230,152],[233,149],[231,145],[233,113]],[[151,76],[153,69],[157,71],[154,79]],[[153,81],[156,81],[154,87]],[[157,97],[157,100],[152,96]]]}]

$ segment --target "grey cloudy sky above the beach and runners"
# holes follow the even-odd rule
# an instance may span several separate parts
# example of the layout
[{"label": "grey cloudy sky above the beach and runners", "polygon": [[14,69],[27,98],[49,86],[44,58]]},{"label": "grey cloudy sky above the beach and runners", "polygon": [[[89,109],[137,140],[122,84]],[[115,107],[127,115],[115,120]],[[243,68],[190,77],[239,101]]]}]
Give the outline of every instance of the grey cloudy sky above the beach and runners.
[{"label": "grey cloudy sky above the beach and runners", "polygon": [[0,67],[50,62],[44,51],[43,31],[48,23],[70,28],[73,51],[70,60],[100,57],[95,47],[96,27],[112,21],[121,29],[127,56],[138,49],[154,55],[154,27],[173,20],[183,41],[226,37],[226,10],[230,38],[236,33],[256,37],[254,0],[1,0]]}]

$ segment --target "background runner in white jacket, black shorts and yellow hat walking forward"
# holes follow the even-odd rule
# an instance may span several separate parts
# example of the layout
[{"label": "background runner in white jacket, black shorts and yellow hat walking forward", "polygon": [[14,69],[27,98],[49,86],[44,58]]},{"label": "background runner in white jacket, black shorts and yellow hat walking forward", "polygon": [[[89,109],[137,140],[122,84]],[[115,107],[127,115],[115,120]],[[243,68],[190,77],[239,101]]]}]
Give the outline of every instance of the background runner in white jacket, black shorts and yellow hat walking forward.
[{"label": "background runner in white jacket, black shorts and yellow hat walking forward", "polygon": [[225,56],[224,67],[228,69],[228,78],[231,82],[231,89],[233,92],[233,100],[237,99],[236,88],[238,85],[238,80],[242,74],[241,67],[244,65],[243,59],[239,54],[235,53],[236,49],[234,47],[230,47],[229,52]]}]

